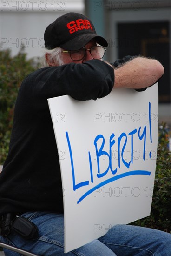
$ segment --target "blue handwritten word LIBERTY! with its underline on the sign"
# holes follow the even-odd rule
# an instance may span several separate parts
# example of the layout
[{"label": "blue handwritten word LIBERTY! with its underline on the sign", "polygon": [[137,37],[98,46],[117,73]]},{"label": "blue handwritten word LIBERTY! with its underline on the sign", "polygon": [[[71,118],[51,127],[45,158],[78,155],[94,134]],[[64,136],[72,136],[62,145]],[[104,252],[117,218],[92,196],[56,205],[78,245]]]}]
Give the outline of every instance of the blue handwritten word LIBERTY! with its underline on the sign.
[{"label": "blue handwritten word LIBERTY! with its underline on the sign", "polygon": [[[151,103],[149,102],[149,131],[150,131],[150,141],[152,143],[152,132],[151,132]],[[80,182],[78,184],[75,183],[75,171],[74,171],[74,164],[73,164],[73,157],[72,157],[72,148],[69,140],[69,135],[68,132],[66,132],[66,139],[68,143],[68,148],[69,148],[69,153],[70,153],[70,160],[71,160],[71,167],[72,167],[72,182],[73,182],[73,190],[75,191],[76,189],[79,189],[80,187],[83,186],[88,186],[90,181],[84,181]],[[110,182],[116,181],[118,179],[124,178],[126,176],[130,175],[151,175],[151,172],[147,170],[129,170],[127,172],[124,172],[122,174],[116,175],[118,172],[118,169],[121,168],[121,162],[122,164],[125,165],[126,168],[130,169],[130,165],[133,163],[133,145],[135,139],[142,141],[143,143],[143,160],[145,161],[145,146],[146,146],[146,140],[147,140],[147,127],[146,125],[144,128],[139,127],[138,129],[135,128],[132,131],[130,131],[128,134],[126,133],[121,133],[120,136],[117,138],[117,142],[115,140],[115,134],[112,133],[109,138],[109,152],[106,152],[103,150],[104,145],[105,145],[105,138],[103,135],[99,134],[95,137],[94,139],[94,146],[96,150],[96,155],[97,155],[97,177],[105,177],[107,173],[110,171],[112,173],[112,177],[109,179],[106,179],[103,182],[100,182],[98,185],[94,186],[92,189],[88,190],[84,195],[82,195],[78,202],[81,202],[86,196],[90,195],[93,191],[96,189],[99,189],[100,187],[104,186],[105,184],[108,184]],[[127,144],[127,141],[131,141],[131,158],[129,162],[126,162],[124,159],[124,153],[125,153],[125,147]],[[101,143],[100,143],[101,141]],[[100,144],[100,147],[98,148],[98,145]],[[112,167],[112,147],[114,144],[117,144],[118,147],[118,167],[113,168]],[[100,169],[100,157],[103,157],[103,155],[106,155],[108,158],[108,167],[105,169],[105,171],[101,171]],[[151,158],[151,152],[149,154]],[[90,178],[91,182],[94,182],[93,179],[93,172],[92,172],[92,158],[90,151],[88,152],[88,157],[89,157],[89,165],[90,165]]]}]

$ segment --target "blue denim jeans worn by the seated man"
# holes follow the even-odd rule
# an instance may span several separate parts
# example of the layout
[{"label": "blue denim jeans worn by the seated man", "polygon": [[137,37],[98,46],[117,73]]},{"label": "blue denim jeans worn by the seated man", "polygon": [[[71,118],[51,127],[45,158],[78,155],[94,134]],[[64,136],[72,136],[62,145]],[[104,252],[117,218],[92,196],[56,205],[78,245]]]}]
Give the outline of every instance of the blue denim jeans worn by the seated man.
[{"label": "blue denim jeans worn by the seated man", "polygon": [[[171,256],[171,234],[156,229],[116,225],[106,235],[64,254],[64,218],[51,212],[28,212],[38,227],[38,238],[25,240],[16,233],[0,241],[43,256]],[[19,256],[4,249],[6,256]]]}]

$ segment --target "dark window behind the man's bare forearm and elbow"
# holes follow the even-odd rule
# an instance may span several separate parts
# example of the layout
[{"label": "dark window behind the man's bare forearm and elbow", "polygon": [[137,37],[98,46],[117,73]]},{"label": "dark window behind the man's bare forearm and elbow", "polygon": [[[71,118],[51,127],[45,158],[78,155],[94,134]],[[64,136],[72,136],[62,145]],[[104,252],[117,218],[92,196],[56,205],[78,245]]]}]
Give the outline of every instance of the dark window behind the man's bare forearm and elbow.
[{"label": "dark window behind the man's bare forearm and elbow", "polygon": [[159,102],[170,102],[169,22],[118,23],[119,59],[141,54],[160,61],[164,75],[159,81]]}]

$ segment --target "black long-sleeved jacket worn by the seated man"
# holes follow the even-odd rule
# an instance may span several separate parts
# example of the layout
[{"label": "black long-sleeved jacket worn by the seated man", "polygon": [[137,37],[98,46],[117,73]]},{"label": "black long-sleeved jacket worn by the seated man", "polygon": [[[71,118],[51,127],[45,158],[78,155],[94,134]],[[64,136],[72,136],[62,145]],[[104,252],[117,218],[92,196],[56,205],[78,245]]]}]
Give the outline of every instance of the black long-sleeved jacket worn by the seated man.
[{"label": "black long-sleeved jacket worn by the seated man", "polygon": [[103,61],[41,68],[22,82],[14,111],[9,153],[0,174],[0,215],[63,212],[58,149],[47,99],[79,101],[109,94],[113,68]]}]

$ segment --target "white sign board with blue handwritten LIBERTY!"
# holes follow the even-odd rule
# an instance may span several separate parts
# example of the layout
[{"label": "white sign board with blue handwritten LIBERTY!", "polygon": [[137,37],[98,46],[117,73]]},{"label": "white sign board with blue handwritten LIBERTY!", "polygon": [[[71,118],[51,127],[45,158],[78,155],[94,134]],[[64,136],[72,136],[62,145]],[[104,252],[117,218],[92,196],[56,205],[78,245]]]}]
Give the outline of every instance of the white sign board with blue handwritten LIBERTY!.
[{"label": "white sign board with blue handwritten LIBERTY!", "polygon": [[65,252],[115,224],[150,215],[158,142],[158,85],[113,89],[96,101],[48,99],[64,193]]}]

